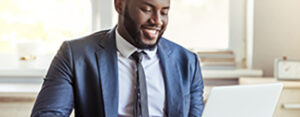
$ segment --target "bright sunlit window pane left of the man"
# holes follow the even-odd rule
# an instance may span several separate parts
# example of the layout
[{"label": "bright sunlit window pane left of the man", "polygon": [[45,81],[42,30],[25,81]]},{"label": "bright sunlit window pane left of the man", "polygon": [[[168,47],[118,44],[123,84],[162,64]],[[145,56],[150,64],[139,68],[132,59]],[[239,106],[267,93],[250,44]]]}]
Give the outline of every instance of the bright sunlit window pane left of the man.
[{"label": "bright sunlit window pane left of the man", "polygon": [[62,41],[91,33],[91,21],[88,0],[1,0],[0,68],[16,64],[21,54],[55,53]]}]

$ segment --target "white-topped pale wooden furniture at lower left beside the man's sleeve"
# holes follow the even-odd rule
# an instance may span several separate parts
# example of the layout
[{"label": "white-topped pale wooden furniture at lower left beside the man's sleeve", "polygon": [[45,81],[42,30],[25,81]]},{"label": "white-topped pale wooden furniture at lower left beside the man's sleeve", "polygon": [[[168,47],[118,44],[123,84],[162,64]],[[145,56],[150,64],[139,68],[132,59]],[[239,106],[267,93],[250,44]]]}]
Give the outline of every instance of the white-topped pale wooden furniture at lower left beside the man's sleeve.
[{"label": "white-topped pale wooden furniture at lower left beside the man's sleeve", "polygon": [[0,83],[0,117],[29,117],[38,83]]}]

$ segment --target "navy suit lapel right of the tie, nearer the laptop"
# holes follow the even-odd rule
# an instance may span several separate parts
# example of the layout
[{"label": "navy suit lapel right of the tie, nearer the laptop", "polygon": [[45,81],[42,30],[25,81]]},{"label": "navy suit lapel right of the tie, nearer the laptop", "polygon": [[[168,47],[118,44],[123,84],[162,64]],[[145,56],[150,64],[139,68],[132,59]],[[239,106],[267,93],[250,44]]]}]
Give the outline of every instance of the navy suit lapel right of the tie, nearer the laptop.
[{"label": "navy suit lapel right of the tie, nearer the laptop", "polygon": [[169,117],[183,116],[183,94],[182,82],[178,72],[176,60],[170,56],[172,51],[167,45],[164,45],[165,40],[161,40],[158,44],[158,55],[163,69],[166,87],[167,113]]}]

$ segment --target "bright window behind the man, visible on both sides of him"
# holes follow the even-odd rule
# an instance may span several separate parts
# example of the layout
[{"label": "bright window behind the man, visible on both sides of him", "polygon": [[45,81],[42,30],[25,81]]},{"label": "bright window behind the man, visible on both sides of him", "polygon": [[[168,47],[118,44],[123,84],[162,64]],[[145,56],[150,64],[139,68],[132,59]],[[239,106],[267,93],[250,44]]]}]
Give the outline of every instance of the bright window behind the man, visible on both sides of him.
[{"label": "bright window behind the man, visible on both sides of him", "polygon": [[[66,39],[112,28],[113,6],[112,0],[1,0],[0,68],[17,63],[20,42],[45,43],[39,50],[55,53]],[[171,0],[169,17],[164,37],[195,51],[230,50],[235,61],[245,60],[245,0]]]}]

